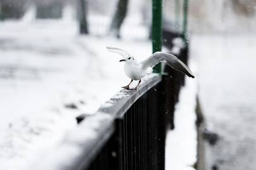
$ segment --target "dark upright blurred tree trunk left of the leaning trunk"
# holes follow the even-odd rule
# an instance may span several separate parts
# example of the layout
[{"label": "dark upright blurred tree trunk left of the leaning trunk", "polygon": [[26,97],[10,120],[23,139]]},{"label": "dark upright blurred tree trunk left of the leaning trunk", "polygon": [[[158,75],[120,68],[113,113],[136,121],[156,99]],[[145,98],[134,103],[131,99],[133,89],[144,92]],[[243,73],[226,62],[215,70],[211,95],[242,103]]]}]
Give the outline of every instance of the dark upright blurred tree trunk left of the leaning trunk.
[{"label": "dark upright blurred tree trunk left of the leaning trunk", "polygon": [[78,0],[78,20],[81,34],[88,34],[87,4],[87,0]]}]

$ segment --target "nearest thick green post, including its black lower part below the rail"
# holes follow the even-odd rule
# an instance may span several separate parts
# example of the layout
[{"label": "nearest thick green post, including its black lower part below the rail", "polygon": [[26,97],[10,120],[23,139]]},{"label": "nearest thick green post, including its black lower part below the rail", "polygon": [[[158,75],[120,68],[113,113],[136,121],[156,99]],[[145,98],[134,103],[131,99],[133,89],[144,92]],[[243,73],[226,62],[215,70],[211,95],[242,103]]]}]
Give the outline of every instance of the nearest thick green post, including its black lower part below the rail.
[{"label": "nearest thick green post, including its black lower part below the rail", "polygon": [[[162,50],[162,0],[152,0],[152,50]],[[161,63],[155,65],[154,72],[162,72]],[[164,115],[165,103],[163,83],[157,85],[157,92],[152,91],[156,101],[152,103],[152,113],[149,114],[149,129],[151,140],[149,150],[153,157],[149,157],[150,169],[164,170],[165,162],[165,138],[166,138],[166,116]]]}]

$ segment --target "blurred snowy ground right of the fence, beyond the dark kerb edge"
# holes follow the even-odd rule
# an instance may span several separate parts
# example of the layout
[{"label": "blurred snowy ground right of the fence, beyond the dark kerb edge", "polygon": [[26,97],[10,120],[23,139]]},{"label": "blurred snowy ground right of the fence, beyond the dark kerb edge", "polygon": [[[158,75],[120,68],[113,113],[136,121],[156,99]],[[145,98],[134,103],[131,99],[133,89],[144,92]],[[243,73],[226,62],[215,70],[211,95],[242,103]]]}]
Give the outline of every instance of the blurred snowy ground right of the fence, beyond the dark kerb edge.
[{"label": "blurred snowy ground right of the fence, beyond the dark kerb edge", "polygon": [[255,35],[194,35],[191,45],[207,127],[220,136],[207,169],[255,169]]}]

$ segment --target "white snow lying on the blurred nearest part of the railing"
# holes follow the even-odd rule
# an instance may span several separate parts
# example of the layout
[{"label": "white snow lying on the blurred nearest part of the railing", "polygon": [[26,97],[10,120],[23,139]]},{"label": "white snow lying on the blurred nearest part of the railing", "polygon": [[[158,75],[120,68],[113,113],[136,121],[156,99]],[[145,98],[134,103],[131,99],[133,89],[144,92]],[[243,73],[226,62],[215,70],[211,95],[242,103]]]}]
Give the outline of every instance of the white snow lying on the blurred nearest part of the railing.
[{"label": "white snow lying on the blurred nearest part of the railing", "polygon": [[[103,112],[89,116],[80,126],[67,133],[63,143],[54,148],[54,152],[44,152],[42,157],[32,162],[27,169],[56,170],[74,166],[73,163],[79,161],[83,156],[84,149],[92,150],[95,142],[98,139],[102,140],[102,136],[107,135],[104,130],[111,128],[113,121],[113,115]],[[109,130],[107,131],[109,132]]]}]

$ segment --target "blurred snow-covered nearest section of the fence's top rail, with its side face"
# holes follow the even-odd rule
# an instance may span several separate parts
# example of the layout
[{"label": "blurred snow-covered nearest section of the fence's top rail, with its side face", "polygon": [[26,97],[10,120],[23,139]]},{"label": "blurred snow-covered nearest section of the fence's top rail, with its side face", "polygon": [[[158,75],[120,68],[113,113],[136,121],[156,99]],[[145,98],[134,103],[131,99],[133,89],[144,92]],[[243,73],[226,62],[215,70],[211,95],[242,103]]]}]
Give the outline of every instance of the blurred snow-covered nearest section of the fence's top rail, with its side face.
[{"label": "blurred snow-covered nearest section of the fence's top rail, with its side face", "polygon": [[31,169],[80,170],[89,166],[113,134],[113,122],[114,117],[107,113],[89,116],[66,135],[61,145],[48,152],[40,162],[35,162]]}]

